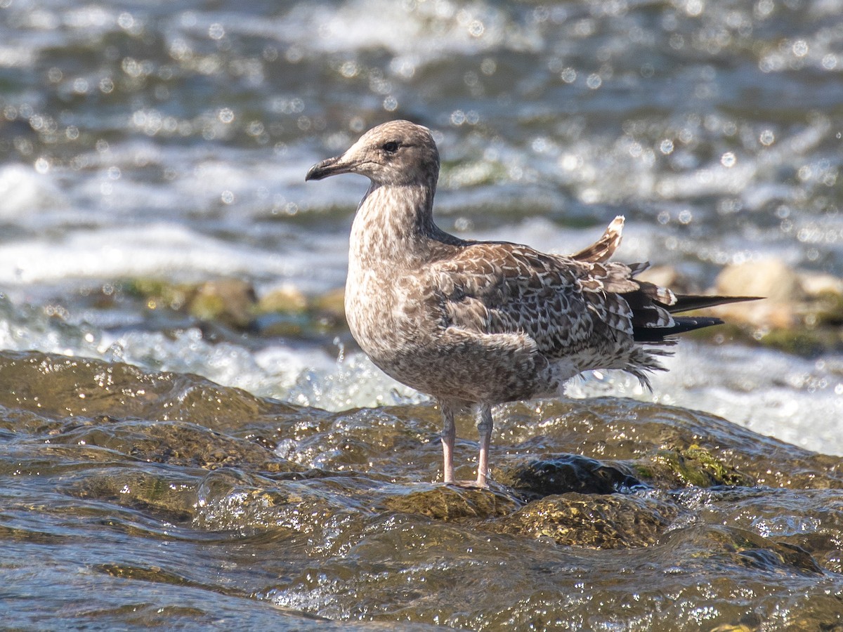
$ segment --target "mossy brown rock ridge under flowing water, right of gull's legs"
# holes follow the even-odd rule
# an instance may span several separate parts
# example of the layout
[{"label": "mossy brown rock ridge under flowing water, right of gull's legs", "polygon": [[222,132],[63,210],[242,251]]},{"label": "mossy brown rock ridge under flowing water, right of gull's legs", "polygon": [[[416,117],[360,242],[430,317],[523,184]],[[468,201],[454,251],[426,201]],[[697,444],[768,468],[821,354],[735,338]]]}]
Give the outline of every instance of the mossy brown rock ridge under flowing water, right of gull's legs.
[{"label": "mossy brown rock ridge under flowing water, right of gull's legs", "polygon": [[840,458],[695,410],[592,398],[507,404],[502,417],[498,431],[508,442],[529,446],[540,437],[541,446],[575,447],[601,463],[621,464],[636,479],[657,487],[693,485],[689,481],[694,479],[704,485],[843,488]]}]

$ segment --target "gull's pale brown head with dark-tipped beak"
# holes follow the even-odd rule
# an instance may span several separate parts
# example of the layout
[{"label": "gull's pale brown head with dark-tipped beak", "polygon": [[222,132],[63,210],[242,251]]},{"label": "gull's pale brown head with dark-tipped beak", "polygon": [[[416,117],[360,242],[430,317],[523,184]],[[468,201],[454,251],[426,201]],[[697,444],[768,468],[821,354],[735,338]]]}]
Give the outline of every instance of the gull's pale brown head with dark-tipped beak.
[{"label": "gull's pale brown head with dark-tipped beak", "polygon": [[436,185],[439,152],[430,130],[410,121],[373,127],[345,153],[310,168],[305,180],[361,174],[378,185]]}]

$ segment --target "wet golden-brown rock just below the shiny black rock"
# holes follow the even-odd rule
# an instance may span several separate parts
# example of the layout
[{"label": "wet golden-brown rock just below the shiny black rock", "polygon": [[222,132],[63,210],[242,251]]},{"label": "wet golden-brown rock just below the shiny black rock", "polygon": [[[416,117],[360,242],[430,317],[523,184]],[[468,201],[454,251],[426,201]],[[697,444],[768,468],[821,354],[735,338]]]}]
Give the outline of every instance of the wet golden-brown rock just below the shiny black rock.
[{"label": "wet golden-brown rock just below the shiny black rock", "polygon": [[643,495],[569,493],[530,502],[496,528],[558,544],[618,549],[655,544],[678,512]]}]

